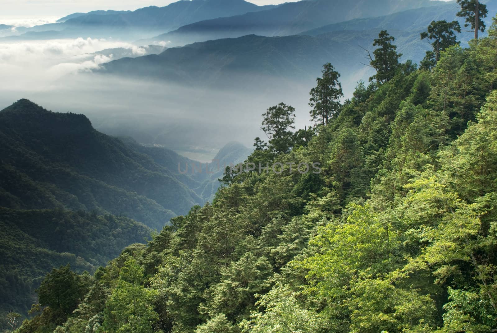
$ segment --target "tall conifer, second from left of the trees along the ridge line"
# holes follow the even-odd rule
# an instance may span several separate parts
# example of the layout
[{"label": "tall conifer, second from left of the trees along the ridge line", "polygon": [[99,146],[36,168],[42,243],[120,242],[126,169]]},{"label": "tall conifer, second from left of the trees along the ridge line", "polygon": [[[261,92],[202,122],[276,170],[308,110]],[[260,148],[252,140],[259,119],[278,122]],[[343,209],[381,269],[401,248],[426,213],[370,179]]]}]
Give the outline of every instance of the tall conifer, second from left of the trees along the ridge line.
[{"label": "tall conifer, second from left of the trees along the ridge line", "polygon": [[322,74],[322,78],[316,79],[317,86],[311,89],[309,105],[313,108],[311,120],[327,125],[340,111],[339,99],[343,97],[343,91],[338,81],[340,73],[330,63],[323,66]]}]

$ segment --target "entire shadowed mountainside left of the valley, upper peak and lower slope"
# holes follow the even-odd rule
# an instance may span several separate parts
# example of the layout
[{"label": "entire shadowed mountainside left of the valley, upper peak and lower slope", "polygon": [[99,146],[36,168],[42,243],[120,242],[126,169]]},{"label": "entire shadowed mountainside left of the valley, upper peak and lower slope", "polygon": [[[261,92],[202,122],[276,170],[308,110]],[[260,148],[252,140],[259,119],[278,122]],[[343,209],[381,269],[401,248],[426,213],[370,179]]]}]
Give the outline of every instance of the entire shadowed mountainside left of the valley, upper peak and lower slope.
[{"label": "entire shadowed mountainside left of the valley, upper peak and lower slope", "polygon": [[[250,152],[229,143],[217,158],[229,164]],[[180,173],[187,164],[189,172]],[[205,168],[162,147],[102,134],[82,114],[28,100],[0,111],[0,315],[27,316],[52,268],[93,273],[143,243],[151,228],[212,200],[224,170]]]}]

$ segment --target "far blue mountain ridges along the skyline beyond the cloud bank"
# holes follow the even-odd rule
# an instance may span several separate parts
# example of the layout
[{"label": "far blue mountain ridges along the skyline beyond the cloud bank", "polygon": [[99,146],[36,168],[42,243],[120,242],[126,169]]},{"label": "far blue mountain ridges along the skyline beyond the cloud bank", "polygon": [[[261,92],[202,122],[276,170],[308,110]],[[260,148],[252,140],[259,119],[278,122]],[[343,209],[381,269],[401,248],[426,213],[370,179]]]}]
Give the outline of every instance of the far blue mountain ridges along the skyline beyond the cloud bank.
[{"label": "far blue mountain ridges along the skyline beyond the cloud bank", "polygon": [[[175,46],[248,34],[287,36],[354,18],[443,3],[436,0],[302,0],[258,6],[245,0],[180,0],[164,7],[149,6],[134,11],[73,13],[57,23],[16,28],[16,35],[20,39],[112,36],[128,41],[142,36],[148,38],[140,41],[141,45],[171,41]],[[162,34],[150,38],[154,32]],[[29,34],[23,36],[25,33]]]}]

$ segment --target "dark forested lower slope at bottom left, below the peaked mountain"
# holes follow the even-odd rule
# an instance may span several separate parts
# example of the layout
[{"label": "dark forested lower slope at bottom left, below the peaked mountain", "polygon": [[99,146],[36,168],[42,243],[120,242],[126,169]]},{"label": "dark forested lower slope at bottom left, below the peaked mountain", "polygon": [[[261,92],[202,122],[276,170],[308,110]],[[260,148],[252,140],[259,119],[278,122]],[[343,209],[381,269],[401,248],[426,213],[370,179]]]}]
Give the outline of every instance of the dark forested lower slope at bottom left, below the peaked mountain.
[{"label": "dark forested lower slope at bottom left, below the peaked mountain", "polygon": [[[35,289],[53,267],[70,264],[93,273],[152,230],[124,217],[83,211],[11,210],[0,207],[0,314],[27,316],[37,302]],[[0,328],[5,327],[2,321]],[[6,327],[5,327],[6,328]]]}]

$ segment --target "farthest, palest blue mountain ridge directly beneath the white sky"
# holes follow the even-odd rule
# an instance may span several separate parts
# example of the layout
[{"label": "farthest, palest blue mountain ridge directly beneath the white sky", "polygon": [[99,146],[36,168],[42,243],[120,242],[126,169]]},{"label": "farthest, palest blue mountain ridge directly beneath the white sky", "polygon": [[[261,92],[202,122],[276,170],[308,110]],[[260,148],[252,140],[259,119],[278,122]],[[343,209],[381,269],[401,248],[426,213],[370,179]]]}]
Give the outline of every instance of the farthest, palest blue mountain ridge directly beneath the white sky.
[{"label": "farthest, palest blue mountain ridge directly beneath the white sky", "polygon": [[[64,22],[19,28],[19,33],[59,31],[55,38],[104,37],[134,40],[167,32],[193,22],[266,10],[245,0],[180,0],[164,7],[149,6],[134,11],[89,12],[69,17]],[[102,14],[102,12],[104,12]]]}]

